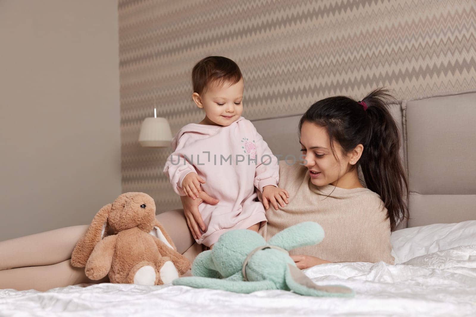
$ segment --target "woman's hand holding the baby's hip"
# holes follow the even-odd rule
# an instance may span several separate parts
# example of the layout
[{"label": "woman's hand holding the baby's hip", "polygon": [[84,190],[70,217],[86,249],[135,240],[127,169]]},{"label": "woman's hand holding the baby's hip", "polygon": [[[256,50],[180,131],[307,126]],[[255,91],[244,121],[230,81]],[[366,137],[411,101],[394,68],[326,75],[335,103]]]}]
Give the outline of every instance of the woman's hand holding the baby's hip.
[{"label": "woman's hand holding the baby's hip", "polygon": [[183,213],[187,219],[188,228],[190,229],[190,232],[192,232],[193,238],[198,240],[202,236],[198,226],[200,226],[202,231],[207,230],[202,216],[198,211],[198,205],[202,202],[216,205],[219,201],[216,198],[210,197],[206,192],[203,191],[200,191],[198,194],[198,199],[192,199],[188,196],[180,196],[180,200],[182,201]]}]

